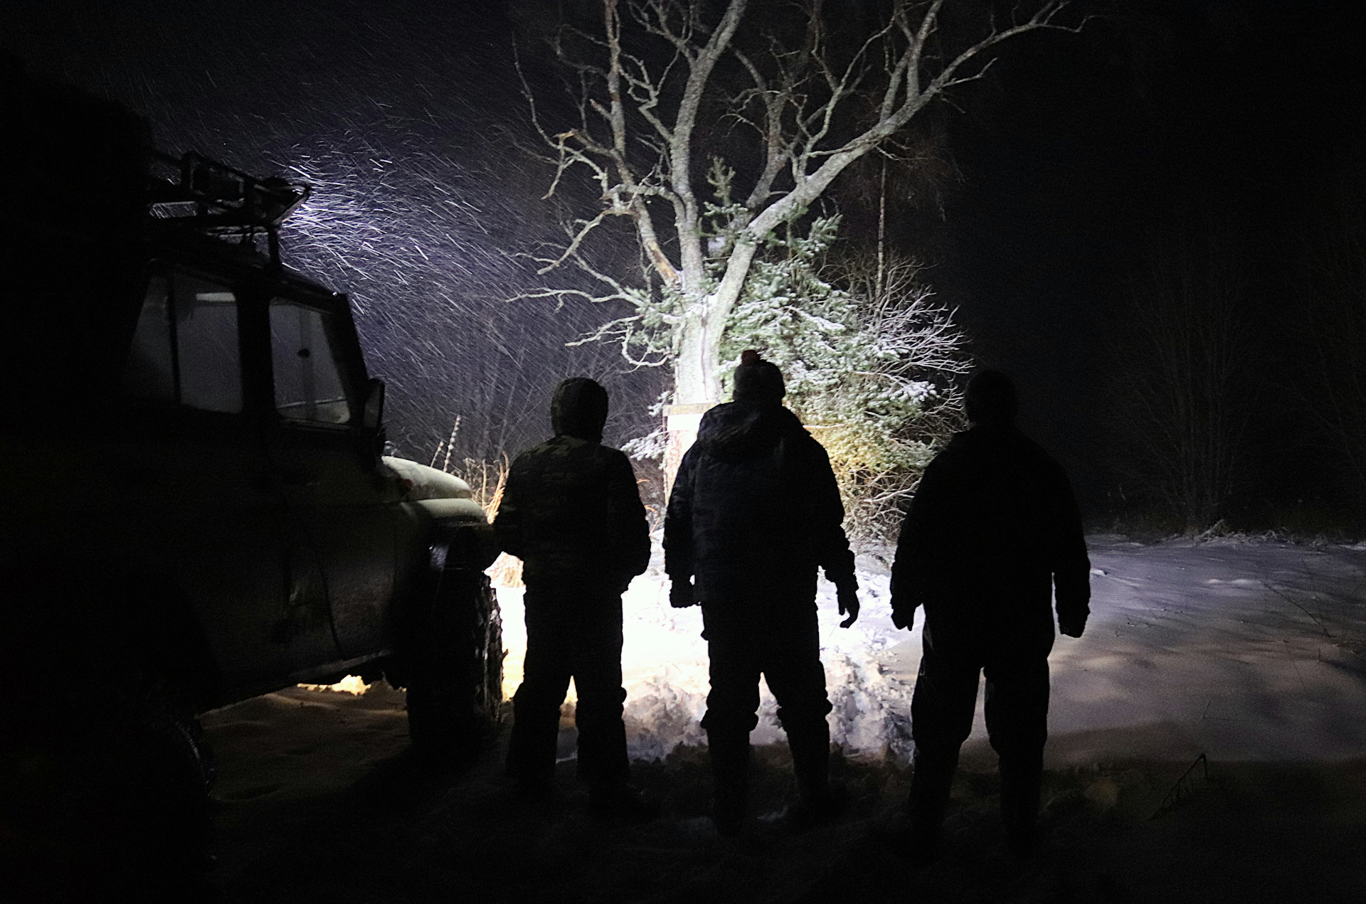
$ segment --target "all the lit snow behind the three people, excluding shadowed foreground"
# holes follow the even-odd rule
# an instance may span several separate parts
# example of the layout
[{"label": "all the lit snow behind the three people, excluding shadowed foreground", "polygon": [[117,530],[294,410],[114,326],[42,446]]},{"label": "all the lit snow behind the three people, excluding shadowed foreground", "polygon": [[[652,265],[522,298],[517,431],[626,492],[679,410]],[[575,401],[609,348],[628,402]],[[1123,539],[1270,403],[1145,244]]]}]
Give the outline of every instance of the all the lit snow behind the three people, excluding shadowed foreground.
[{"label": "all the lit snow behind the three people, excluding shadowed foreground", "polygon": [[[1089,538],[1091,620],[1053,647],[1049,763],[1128,758],[1340,759],[1366,752],[1366,548]],[[887,568],[859,557],[862,615],[837,625],[821,582],[821,658],[832,739],[850,752],[910,752],[919,628],[892,625]],[[522,676],[522,594],[500,589],[505,690]],[[658,565],[624,597],[632,757],[702,741],[706,643],[695,608],[668,605]],[[571,691],[572,694],[572,691]],[[762,688],[754,743],[783,739]],[[985,741],[981,699],[967,751]]]}]

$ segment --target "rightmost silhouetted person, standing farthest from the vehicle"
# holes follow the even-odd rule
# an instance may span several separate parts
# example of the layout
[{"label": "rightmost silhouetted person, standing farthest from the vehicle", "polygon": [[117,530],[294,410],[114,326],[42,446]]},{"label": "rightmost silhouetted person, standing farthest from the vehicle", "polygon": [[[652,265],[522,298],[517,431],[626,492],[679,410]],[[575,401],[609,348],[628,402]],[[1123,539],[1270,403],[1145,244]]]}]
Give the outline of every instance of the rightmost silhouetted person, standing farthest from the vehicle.
[{"label": "rightmost silhouetted person, standing farthest from the vehicle", "polygon": [[973,427],[940,452],[902,526],[892,619],[925,606],[923,655],[911,699],[915,773],[912,856],[933,858],[959,747],[986,673],[986,731],[1000,758],[1001,817],[1011,848],[1035,844],[1048,654],[1059,630],[1082,636],[1090,561],[1067,474],[1015,427],[1015,386],[999,370],[967,385]]}]

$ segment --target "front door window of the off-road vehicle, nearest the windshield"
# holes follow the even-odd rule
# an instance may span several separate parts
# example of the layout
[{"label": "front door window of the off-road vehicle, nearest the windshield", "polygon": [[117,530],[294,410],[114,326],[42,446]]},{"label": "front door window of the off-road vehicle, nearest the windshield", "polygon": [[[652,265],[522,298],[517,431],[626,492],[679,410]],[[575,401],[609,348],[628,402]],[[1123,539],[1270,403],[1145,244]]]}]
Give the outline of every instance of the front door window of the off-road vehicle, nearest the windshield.
[{"label": "front door window of the off-road vehicle, nearest the windshield", "polygon": [[309,423],[351,421],[333,328],[331,314],[284,298],[270,302],[275,408],[281,418]]}]

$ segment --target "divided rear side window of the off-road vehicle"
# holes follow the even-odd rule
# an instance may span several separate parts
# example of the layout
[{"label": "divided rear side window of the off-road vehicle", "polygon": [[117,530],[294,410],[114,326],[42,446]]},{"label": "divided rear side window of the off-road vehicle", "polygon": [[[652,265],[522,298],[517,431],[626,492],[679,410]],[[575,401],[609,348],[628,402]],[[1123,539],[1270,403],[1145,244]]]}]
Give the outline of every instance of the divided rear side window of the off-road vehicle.
[{"label": "divided rear side window of the off-road vehicle", "polygon": [[139,399],[201,411],[242,411],[236,294],[194,273],[154,273],[123,388]]}]

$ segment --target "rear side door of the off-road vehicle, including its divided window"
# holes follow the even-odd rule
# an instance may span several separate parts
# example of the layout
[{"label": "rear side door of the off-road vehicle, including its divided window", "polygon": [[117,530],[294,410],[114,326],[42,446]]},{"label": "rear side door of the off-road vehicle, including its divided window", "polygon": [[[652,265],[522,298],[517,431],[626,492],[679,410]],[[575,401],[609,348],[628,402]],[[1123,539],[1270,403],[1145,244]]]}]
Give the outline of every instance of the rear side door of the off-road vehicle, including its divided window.
[{"label": "rear side door of the off-road vehicle, including its divided window", "polygon": [[279,687],[337,655],[318,557],[270,479],[232,279],[154,266],[123,371],[133,403],[105,467],[124,512],[111,550],[172,575],[229,695]]}]

